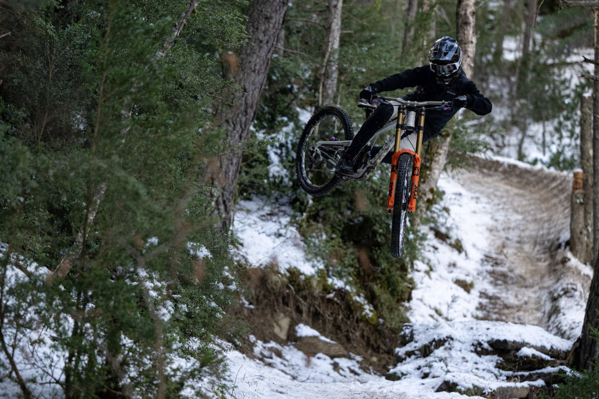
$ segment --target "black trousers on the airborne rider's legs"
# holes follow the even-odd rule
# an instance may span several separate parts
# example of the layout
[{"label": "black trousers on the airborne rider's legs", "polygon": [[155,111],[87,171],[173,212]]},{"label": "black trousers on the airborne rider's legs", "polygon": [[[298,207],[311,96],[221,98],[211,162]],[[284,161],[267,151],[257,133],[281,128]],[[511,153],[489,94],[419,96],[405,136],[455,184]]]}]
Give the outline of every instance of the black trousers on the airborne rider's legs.
[{"label": "black trousers on the airborne rider's legs", "polygon": [[[347,147],[344,158],[354,163],[356,157],[361,153],[362,148],[368,144],[368,141],[374,136],[374,133],[377,132],[380,128],[385,126],[385,124],[391,119],[393,116],[393,105],[391,104],[381,104],[377,106],[377,108],[370,114],[370,117],[364,121],[358,133],[353,138],[352,144]],[[432,126],[431,126],[432,125]],[[425,143],[432,139],[434,136],[440,133],[440,129],[435,129],[434,123],[424,123],[424,132],[422,135],[422,142]],[[373,152],[380,150],[381,147],[373,147]],[[385,156],[382,162],[391,163],[391,156],[393,154],[389,153]]]}]

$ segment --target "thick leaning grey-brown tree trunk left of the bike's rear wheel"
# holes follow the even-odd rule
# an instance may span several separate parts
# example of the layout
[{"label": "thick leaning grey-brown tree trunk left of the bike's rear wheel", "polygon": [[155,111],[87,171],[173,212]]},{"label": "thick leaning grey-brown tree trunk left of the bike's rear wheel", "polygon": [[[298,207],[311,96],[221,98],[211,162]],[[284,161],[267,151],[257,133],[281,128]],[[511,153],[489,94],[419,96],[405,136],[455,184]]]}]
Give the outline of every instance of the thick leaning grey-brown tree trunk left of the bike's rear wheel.
[{"label": "thick leaning grey-brown tree trunk left of the bike's rear wheel", "polygon": [[249,138],[256,114],[258,96],[264,87],[274,47],[283,25],[288,2],[285,0],[253,0],[246,23],[249,42],[240,54],[229,54],[229,78],[241,87],[231,93],[233,105],[216,103],[216,127],[224,127],[230,154],[217,157],[208,165],[208,182],[213,187],[214,206],[223,230],[232,223],[235,185],[241,167],[242,151],[238,149]]}]

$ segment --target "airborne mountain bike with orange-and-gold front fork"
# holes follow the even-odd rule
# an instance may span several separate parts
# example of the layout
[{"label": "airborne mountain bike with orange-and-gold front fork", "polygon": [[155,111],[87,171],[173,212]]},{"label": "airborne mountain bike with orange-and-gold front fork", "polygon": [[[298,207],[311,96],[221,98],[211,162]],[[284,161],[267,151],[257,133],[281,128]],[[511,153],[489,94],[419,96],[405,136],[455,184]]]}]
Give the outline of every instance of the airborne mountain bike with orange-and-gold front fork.
[{"label": "airborne mountain bike with orange-and-gold front fork", "polygon": [[[420,151],[424,132],[426,110],[449,111],[447,101],[408,101],[402,98],[374,96],[377,103],[397,106],[397,117],[374,133],[367,146],[358,156],[358,166],[350,175],[336,171],[337,162],[352,142],[352,121],[338,106],[325,106],[310,118],[299,139],[295,157],[295,170],[299,185],[311,196],[323,196],[331,192],[341,181],[365,180],[379,163],[391,163],[387,209],[392,214],[391,254],[401,257],[406,235],[407,214],[416,209],[418,181],[420,176]],[[366,117],[375,105],[358,103]],[[418,123],[417,123],[418,121]],[[389,136],[381,146],[374,146],[383,133],[395,127],[395,135]]]}]

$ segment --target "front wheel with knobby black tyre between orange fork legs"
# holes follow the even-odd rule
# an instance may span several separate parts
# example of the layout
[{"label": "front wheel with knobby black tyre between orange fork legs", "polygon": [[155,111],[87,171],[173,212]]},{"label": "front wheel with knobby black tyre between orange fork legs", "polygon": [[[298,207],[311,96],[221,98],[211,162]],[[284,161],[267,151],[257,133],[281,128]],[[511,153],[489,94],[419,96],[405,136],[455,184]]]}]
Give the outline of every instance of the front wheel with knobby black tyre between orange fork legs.
[{"label": "front wheel with knobby black tyre between orange fork legs", "polygon": [[413,162],[414,159],[407,153],[401,154],[397,162],[397,182],[391,223],[391,255],[394,258],[400,258],[404,251]]}]

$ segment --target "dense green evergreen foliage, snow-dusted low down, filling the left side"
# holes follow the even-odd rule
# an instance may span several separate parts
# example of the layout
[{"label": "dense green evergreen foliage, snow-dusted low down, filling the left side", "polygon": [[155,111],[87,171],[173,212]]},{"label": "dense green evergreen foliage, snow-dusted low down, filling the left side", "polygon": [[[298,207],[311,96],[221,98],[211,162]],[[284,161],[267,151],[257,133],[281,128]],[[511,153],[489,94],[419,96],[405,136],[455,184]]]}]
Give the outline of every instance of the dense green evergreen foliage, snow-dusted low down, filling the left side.
[{"label": "dense green evergreen foliage, snow-dusted low down, filling the left side", "polygon": [[187,4],[0,4],[14,27],[0,42],[0,315],[3,345],[19,343],[2,378],[17,379],[16,357],[26,386],[67,398],[224,387],[210,376],[241,327],[222,310],[230,240],[202,184],[221,147],[208,103],[225,86],[202,50],[244,41],[244,3],[198,8],[153,60]]}]

